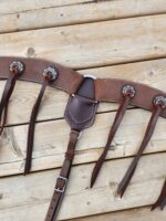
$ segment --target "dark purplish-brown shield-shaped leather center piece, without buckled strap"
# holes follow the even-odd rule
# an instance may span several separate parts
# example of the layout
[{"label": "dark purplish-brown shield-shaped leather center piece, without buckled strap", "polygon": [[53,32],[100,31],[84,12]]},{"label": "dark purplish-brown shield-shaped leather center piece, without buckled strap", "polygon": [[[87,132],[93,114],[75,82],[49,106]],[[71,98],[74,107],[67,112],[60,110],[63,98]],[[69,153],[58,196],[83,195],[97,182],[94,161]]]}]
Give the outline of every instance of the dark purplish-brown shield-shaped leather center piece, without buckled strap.
[{"label": "dark purplish-brown shield-shaped leather center piece, without buckled strap", "polygon": [[97,108],[97,103],[92,98],[94,91],[94,80],[85,77],[76,94],[70,97],[64,117],[72,129],[82,130],[93,124]]}]

